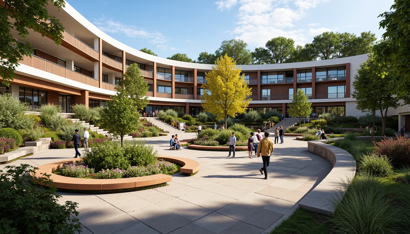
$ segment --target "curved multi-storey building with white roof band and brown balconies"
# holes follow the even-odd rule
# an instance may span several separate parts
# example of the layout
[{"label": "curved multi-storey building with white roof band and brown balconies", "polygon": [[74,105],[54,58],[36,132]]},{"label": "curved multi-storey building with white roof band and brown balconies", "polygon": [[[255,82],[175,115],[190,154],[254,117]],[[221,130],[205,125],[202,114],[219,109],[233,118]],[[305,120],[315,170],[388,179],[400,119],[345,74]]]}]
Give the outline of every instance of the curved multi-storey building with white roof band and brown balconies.
[{"label": "curved multi-storey building with white roof band and brown balconies", "polygon": [[[212,65],[164,59],[131,48],[99,30],[68,4],[60,12],[49,7],[49,13],[65,27],[62,44],[56,45],[47,36],[32,31],[28,41],[35,48],[33,56],[20,62],[16,68],[18,79],[10,82],[10,87],[0,85],[0,93],[8,90],[33,109],[52,103],[70,113],[75,103],[89,107],[104,105],[115,93],[122,73],[130,64],[137,63],[149,85],[147,113],[168,108],[194,115],[202,111],[201,86]],[[303,89],[317,114],[358,116],[362,113],[351,97],[352,83],[360,64],[366,60],[367,55],[358,55],[238,66],[252,89],[250,109],[276,109],[286,116],[287,104],[292,102],[297,89]],[[410,109],[403,107],[397,111],[390,111],[390,115],[399,115],[399,125],[408,126],[410,131]]]}]

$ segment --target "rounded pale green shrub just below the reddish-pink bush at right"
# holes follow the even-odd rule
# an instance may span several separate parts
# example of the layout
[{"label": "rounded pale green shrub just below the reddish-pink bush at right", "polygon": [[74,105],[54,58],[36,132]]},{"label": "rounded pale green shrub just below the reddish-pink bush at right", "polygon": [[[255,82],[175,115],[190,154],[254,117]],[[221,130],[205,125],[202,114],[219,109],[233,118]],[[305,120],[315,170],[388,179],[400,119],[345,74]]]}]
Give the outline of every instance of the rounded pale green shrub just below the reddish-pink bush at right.
[{"label": "rounded pale green shrub just below the reddish-pink bush at right", "polygon": [[362,172],[375,176],[385,177],[393,172],[393,167],[390,165],[390,160],[386,157],[386,155],[363,155],[362,160],[358,163],[358,166]]}]

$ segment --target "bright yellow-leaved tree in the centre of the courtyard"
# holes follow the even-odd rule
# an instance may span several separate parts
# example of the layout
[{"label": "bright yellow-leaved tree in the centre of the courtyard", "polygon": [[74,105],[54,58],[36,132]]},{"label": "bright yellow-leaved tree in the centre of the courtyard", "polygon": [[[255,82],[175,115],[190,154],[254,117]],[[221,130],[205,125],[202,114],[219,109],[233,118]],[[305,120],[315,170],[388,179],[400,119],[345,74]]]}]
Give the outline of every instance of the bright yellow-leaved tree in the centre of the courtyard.
[{"label": "bright yellow-leaved tree in the centre of the courtyard", "polygon": [[235,117],[236,114],[245,113],[251,101],[251,89],[240,73],[241,67],[236,67],[236,62],[225,54],[216,59],[212,71],[205,74],[207,83],[202,84],[202,107],[216,114],[218,120],[225,118],[226,127],[228,115]]}]

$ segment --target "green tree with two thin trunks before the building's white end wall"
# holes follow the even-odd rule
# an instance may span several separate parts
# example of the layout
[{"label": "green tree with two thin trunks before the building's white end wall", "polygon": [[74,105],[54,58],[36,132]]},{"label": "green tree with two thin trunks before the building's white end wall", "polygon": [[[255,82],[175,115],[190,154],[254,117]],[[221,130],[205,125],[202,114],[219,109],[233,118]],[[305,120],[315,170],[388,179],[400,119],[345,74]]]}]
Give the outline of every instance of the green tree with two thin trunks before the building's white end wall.
[{"label": "green tree with two thin trunks before the building's white end wall", "polygon": [[357,109],[362,112],[373,112],[373,126],[375,122],[374,114],[376,110],[380,111],[380,116],[382,117],[382,136],[384,136],[387,110],[389,107],[397,108],[399,106],[399,98],[394,97],[391,89],[385,84],[385,82],[390,82],[391,76],[386,75],[382,78],[378,75],[382,73],[380,68],[374,60],[374,56],[369,55],[367,61],[360,64],[358,75],[355,75],[355,81],[353,82],[355,91],[352,96],[357,100]]}]

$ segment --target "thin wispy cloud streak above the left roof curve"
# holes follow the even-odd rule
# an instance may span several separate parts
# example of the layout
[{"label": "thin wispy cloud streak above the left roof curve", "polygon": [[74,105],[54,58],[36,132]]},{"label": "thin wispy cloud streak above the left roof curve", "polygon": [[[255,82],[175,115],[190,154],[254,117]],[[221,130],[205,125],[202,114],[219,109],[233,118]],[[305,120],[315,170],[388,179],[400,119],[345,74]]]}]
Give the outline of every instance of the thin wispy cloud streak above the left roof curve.
[{"label": "thin wispy cloud streak above the left roof curve", "polygon": [[[101,18],[99,20],[94,20],[94,25],[96,25],[103,32],[112,34],[121,33],[128,37],[143,38],[153,44],[164,45],[168,41],[168,39],[166,39],[166,37],[160,32],[150,32],[144,28],[135,27],[134,25],[125,25],[111,19],[107,20],[105,18]],[[166,47],[166,45],[164,46]]]}]

